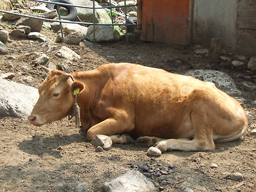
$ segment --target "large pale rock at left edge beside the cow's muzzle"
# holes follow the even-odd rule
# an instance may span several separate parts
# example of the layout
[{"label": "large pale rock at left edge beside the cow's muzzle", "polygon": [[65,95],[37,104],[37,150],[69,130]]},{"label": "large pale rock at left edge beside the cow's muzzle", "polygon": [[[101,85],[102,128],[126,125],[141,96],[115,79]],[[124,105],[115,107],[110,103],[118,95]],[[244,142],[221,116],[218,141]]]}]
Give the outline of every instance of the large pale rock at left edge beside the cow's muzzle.
[{"label": "large pale rock at left edge beside the cow's muzzle", "polygon": [[38,96],[36,88],[0,78],[0,118],[27,118]]}]

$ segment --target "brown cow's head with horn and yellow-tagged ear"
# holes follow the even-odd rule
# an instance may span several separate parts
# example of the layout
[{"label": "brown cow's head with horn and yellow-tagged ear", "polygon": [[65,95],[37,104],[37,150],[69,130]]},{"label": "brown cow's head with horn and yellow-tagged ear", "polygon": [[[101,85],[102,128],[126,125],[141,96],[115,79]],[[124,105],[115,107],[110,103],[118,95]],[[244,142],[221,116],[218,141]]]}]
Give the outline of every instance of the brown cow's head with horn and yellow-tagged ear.
[{"label": "brown cow's head with horn and yellow-tagged ear", "polygon": [[69,115],[74,104],[74,90],[84,90],[84,84],[74,81],[70,74],[60,70],[49,70],[47,78],[38,88],[39,99],[28,120],[32,125],[41,126]]}]

